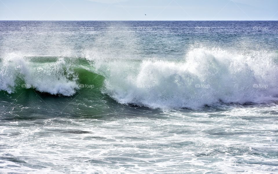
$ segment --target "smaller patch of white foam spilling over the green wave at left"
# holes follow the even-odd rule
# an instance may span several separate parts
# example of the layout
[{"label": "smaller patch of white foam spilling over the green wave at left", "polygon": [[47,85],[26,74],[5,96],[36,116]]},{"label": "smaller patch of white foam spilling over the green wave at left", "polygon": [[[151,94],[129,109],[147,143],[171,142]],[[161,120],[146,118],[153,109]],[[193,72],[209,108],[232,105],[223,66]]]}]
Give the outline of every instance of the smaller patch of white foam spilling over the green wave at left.
[{"label": "smaller patch of white foam spilling over the green wave at left", "polygon": [[[0,90],[8,93],[14,92],[16,85],[65,96],[73,95],[78,89],[76,77],[62,58],[54,63],[31,63],[21,54],[10,53],[2,59],[0,67]],[[73,80],[68,80],[69,76]],[[18,79],[23,82],[17,84]]]}]

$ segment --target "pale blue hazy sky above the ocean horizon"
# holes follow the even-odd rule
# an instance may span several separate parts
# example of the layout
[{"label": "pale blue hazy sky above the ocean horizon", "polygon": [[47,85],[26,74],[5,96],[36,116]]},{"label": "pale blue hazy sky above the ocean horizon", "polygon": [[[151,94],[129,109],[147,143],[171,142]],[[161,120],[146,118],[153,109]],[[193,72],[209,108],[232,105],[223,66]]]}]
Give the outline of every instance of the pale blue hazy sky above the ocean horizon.
[{"label": "pale blue hazy sky above the ocean horizon", "polygon": [[277,7],[278,0],[0,0],[0,20],[278,20]]}]

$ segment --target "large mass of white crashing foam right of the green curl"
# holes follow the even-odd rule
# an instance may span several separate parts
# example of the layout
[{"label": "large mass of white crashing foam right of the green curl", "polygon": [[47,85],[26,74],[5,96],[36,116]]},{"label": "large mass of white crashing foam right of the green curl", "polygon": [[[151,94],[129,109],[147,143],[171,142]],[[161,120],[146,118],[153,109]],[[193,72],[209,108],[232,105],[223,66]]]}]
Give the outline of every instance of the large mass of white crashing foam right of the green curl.
[{"label": "large mass of white crashing foam right of the green curl", "polygon": [[199,108],[224,103],[277,100],[277,54],[192,48],[182,62],[97,63],[105,90],[122,104]]}]

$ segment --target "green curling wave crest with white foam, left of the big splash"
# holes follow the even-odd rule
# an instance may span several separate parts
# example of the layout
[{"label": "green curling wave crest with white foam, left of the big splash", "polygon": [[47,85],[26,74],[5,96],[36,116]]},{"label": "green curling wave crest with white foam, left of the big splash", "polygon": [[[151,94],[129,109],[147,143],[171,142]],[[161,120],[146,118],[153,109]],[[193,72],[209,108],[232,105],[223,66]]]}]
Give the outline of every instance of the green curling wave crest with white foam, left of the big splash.
[{"label": "green curling wave crest with white foam, left of the big splash", "polygon": [[10,54],[1,60],[0,67],[0,90],[9,94],[35,90],[72,96],[103,84],[103,77],[89,71],[90,64],[84,58]]}]

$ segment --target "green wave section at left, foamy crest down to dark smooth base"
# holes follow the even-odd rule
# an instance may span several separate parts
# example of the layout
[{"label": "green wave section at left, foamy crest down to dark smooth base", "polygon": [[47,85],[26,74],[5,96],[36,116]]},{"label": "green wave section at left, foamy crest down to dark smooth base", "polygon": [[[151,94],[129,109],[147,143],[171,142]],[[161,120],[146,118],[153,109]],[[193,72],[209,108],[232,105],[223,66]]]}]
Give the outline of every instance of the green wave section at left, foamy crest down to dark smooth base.
[{"label": "green wave section at left, foamy crest down to dark smooth base", "polygon": [[[2,61],[1,81],[7,80],[7,83],[1,86],[0,101],[4,106],[2,112],[10,111],[6,119],[52,118],[60,114],[86,117],[109,113],[110,108],[117,106],[101,93],[104,77],[90,71],[90,62],[83,58],[63,58],[61,63],[61,59],[25,57],[21,65],[17,61],[6,64]],[[24,64],[28,65],[28,70],[24,69]],[[21,68],[9,69],[12,66]],[[12,75],[5,76],[5,72]],[[74,91],[72,95],[63,95],[71,90]]]}]

